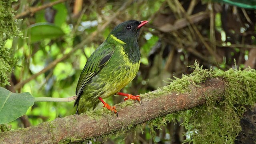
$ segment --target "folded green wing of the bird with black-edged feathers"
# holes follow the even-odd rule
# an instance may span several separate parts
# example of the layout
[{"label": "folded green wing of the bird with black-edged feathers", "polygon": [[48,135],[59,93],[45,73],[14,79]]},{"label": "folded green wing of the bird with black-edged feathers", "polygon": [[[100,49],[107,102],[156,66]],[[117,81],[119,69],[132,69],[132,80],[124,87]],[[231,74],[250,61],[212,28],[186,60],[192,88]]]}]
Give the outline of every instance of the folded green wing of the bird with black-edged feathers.
[{"label": "folded green wing of the bird with black-edged feathers", "polygon": [[107,42],[102,43],[88,58],[84,69],[80,74],[78,84],[76,86],[76,101],[74,106],[79,102],[83,89],[86,88],[86,84],[100,72],[100,70],[108,63],[112,55],[114,54],[115,46]]}]

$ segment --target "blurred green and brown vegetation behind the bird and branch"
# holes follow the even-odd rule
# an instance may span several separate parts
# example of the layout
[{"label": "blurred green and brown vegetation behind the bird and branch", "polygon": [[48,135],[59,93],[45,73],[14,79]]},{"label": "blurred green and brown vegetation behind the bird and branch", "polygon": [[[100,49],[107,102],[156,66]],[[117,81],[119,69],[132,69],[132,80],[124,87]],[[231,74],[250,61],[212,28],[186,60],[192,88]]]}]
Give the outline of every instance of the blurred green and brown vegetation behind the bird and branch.
[{"label": "blurred green and brown vegetation behind the bird and branch", "polygon": [[[206,69],[227,71],[236,68],[235,64],[255,68],[256,12],[253,9],[204,0],[19,0],[4,4],[1,10],[12,4],[18,19],[17,23],[7,23],[10,26],[4,24],[12,29],[6,30],[10,34],[3,32],[7,36],[2,38],[5,45],[0,49],[0,54],[9,55],[5,58],[8,65],[0,61],[1,66],[8,66],[1,68],[0,82],[6,85],[9,74],[10,86],[6,88],[13,92],[30,92],[34,97],[74,96],[87,58],[114,26],[130,19],[150,23],[141,30],[139,39],[140,71],[123,92],[140,94],[165,86],[174,77],[190,74],[193,69],[187,66],[195,60]],[[11,22],[13,18],[10,10],[9,17],[1,17],[1,23]],[[14,38],[21,36],[16,26],[23,37]],[[123,102],[123,98],[112,96],[107,102],[113,105]],[[255,117],[254,109],[248,116]],[[37,102],[26,116],[8,126],[23,128],[74,113],[73,102]],[[154,135],[151,126],[145,123],[140,126],[143,132],[136,128],[127,135],[98,141],[181,143],[188,136],[184,135],[188,131],[179,126],[182,122],[156,127]],[[254,119],[252,124],[255,122]],[[241,136],[237,138],[236,142],[243,142]]]}]

